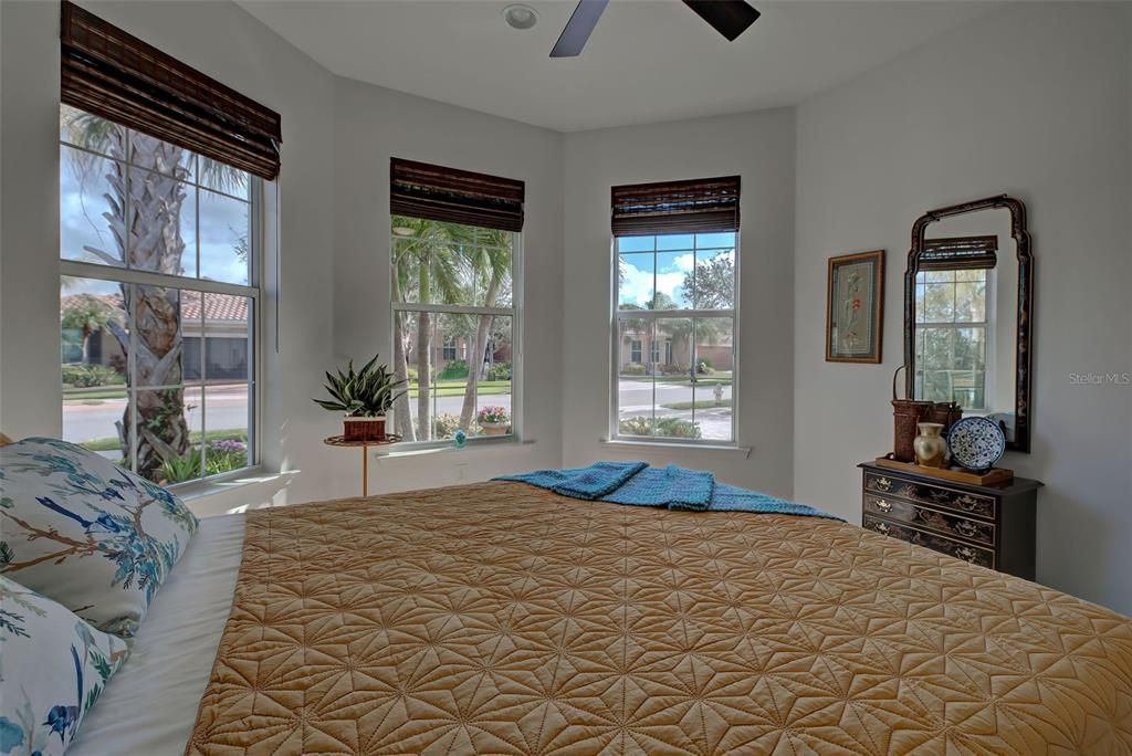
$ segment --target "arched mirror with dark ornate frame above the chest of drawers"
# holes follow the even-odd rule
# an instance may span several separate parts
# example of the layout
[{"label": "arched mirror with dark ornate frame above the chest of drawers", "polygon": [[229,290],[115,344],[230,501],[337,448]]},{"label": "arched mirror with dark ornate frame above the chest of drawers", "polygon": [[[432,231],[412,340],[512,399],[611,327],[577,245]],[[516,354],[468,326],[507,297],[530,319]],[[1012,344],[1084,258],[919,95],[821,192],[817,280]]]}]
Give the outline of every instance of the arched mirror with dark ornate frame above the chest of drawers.
[{"label": "arched mirror with dark ornate frame above the chest of drawers", "polygon": [[1026,206],[1006,195],[912,226],[904,273],[907,393],[994,419],[1030,450],[1034,258]]}]

